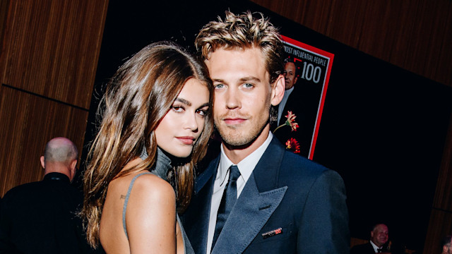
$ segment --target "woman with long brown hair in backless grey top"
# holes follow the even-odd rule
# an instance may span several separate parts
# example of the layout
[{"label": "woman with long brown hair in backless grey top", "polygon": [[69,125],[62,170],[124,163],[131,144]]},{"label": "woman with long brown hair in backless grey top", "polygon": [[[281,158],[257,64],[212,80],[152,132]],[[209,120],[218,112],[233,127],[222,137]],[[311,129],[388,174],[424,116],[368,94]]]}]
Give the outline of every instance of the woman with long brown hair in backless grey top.
[{"label": "woman with long brown hair in backless grey top", "polygon": [[176,209],[189,204],[194,164],[213,129],[211,95],[206,67],[169,42],[148,45],[119,68],[83,180],[91,246],[193,253]]}]

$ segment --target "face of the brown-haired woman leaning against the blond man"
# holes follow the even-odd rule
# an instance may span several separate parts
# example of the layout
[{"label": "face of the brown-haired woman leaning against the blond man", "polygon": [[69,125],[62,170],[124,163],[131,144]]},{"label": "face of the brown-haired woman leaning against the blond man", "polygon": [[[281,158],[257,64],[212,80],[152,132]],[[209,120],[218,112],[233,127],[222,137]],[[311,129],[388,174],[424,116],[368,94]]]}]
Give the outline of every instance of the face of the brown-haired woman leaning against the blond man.
[{"label": "face of the brown-haired woman leaning against the blond man", "polygon": [[204,128],[209,110],[209,90],[196,78],[189,79],[155,129],[157,145],[175,157],[189,157]]}]

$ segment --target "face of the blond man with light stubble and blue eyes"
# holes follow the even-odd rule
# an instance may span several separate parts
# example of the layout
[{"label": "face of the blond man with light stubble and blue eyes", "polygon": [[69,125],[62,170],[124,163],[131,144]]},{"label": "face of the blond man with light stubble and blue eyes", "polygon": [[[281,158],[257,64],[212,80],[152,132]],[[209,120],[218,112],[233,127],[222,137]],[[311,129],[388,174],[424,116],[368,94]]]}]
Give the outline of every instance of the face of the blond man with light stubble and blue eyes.
[{"label": "face of the blond man with light stubble and blue eyes", "polygon": [[269,128],[272,88],[261,51],[217,49],[206,65],[215,87],[213,119],[222,139],[232,146],[252,143]]}]

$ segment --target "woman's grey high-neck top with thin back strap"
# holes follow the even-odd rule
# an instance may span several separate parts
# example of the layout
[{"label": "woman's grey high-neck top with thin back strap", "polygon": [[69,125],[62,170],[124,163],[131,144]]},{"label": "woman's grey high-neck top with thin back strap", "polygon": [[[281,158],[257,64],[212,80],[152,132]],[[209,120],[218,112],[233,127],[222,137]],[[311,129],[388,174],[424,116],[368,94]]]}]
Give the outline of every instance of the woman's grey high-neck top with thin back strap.
[{"label": "woman's grey high-neck top with thin back strap", "polygon": [[[141,159],[145,159],[148,157],[146,154],[146,150],[143,149],[143,152],[141,153]],[[127,229],[126,229],[126,210],[127,210],[127,203],[129,202],[130,193],[132,191],[133,183],[139,176],[143,176],[143,174],[155,174],[156,176],[160,177],[161,179],[167,179],[167,173],[168,170],[171,169],[171,159],[169,159],[160,148],[157,148],[157,162],[155,162],[155,167],[151,169],[150,172],[143,172],[141,174],[136,175],[133,177],[129,189],[127,190],[126,194],[126,200],[124,200],[124,207],[122,209],[122,226],[124,228],[124,233],[126,234],[126,237],[129,239],[129,236],[127,235]],[[184,227],[182,226],[182,223],[179,219],[179,214],[176,214],[177,223],[179,223],[179,227],[182,232],[182,238],[184,239],[184,250],[186,254],[194,254],[194,250],[191,247],[190,241],[188,236],[186,236]]]}]

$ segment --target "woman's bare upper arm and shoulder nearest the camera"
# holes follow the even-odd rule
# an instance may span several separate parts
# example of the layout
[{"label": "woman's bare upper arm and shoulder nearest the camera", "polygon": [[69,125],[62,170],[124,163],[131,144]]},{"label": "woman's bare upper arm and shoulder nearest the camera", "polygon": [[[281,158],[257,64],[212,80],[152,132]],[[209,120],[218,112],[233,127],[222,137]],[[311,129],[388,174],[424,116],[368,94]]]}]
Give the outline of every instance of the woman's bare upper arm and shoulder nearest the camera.
[{"label": "woman's bare upper arm and shoulder nearest the camera", "polygon": [[176,253],[176,198],[167,181],[138,177],[126,210],[131,253]]}]

